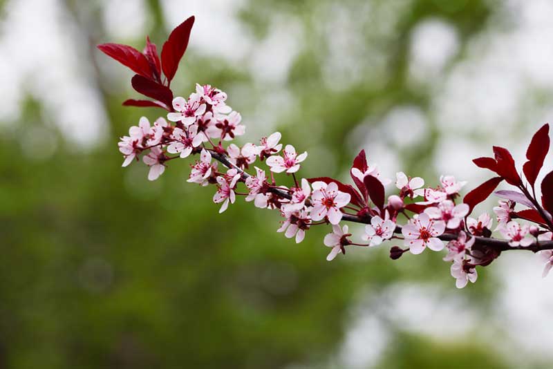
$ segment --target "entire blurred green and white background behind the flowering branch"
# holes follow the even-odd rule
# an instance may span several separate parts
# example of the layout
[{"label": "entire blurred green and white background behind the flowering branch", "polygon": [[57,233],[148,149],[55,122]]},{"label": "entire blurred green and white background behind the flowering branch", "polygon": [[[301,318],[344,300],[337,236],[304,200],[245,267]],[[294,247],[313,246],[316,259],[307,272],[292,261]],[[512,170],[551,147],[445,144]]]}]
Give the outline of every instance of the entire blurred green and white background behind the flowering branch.
[{"label": "entire blurred green and white background behind the flowering branch", "polygon": [[553,116],[549,0],[0,1],[1,368],[551,367],[531,253],[457,290],[442,254],[328,263],[326,229],[296,245],[274,212],[218,215],[187,160],[122,169],[118,137],[160,111],[121,106],[131,72],[95,45],[160,45],[190,15],[177,93],[227,91],[241,142],[281,131],[305,177],[345,180],[363,148],[469,189],[471,158],[520,163]]}]

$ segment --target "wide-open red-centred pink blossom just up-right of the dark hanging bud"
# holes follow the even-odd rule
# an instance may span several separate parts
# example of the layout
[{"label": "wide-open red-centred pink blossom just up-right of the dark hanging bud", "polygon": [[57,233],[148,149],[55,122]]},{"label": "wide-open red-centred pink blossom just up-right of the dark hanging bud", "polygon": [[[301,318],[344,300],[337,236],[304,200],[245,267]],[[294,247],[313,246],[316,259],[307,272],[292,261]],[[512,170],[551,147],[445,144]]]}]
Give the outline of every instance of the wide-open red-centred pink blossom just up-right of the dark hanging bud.
[{"label": "wide-open red-centred pink blossom just up-right of the dark hanging bud", "polygon": [[404,245],[409,246],[411,254],[420,254],[427,246],[433,251],[440,251],[444,244],[438,236],[444,230],[445,223],[442,220],[431,220],[426,213],[418,214],[402,228]]}]

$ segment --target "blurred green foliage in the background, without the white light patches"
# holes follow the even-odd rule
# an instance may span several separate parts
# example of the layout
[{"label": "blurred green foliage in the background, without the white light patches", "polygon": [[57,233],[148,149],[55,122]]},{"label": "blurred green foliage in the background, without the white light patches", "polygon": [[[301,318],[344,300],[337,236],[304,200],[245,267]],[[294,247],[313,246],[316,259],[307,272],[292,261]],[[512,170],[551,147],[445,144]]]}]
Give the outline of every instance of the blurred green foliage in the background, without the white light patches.
[{"label": "blurred green foliage in the background, without the white light patches", "polygon": [[[406,83],[413,27],[440,17],[457,28],[465,44],[493,9],[483,0],[405,1],[409,5],[384,45],[386,82],[374,86],[361,79],[350,91],[332,91],[321,77],[327,40],[312,19],[322,2],[250,0],[240,17],[259,39],[275,15],[303,22],[310,46],[294,59],[287,84],[299,109],[283,113],[278,123],[286,142],[328,147],[337,166],[324,174],[339,176],[355,155],[344,149],[346,136],[366,115],[383,115],[400,102],[429,108],[427,92]],[[160,4],[147,3],[154,16],[143,33],[159,42],[165,34]],[[371,4],[386,7],[388,1]],[[73,14],[81,11],[79,2],[67,6]],[[371,27],[359,32],[371,39]],[[135,43],[142,43],[142,35]],[[175,83],[182,91],[195,81],[255,91],[247,71],[225,61],[189,50],[185,64]],[[220,216],[212,188],[185,182],[187,162],[171,162],[157,182],[147,181],[147,169],[139,165],[122,169],[118,136],[140,115],[153,120],[159,112],[123,108],[120,102],[128,96],[108,92],[102,75],[99,81],[111,135],[97,149],[75,150],[44,122],[41,104],[33,100],[24,108],[26,116],[0,136],[1,368],[322,368],[337,354],[348,312],[362,294],[377,294],[398,281],[452,288],[439,255],[423,255],[415,266],[408,256],[393,262],[381,249],[369,259],[328,263],[321,245],[326,229],[313,229],[296,245],[275,232],[274,212],[238,201]],[[248,111],[235,106],[232,95],[229,102]],[[312,130],[320,135],[310,135]],[[45,131],[45,139],[57,144],[43,158],[20,138]],[[420,160],[431,155],[430,138],[414,149],[418,162],[405,156],[407,169],[433,175]],[[481,279],[458,293],[483,311],[493,282]],[[505,363],[485,342],[440,343],[397,332],[378,367],[505,368]]]}]

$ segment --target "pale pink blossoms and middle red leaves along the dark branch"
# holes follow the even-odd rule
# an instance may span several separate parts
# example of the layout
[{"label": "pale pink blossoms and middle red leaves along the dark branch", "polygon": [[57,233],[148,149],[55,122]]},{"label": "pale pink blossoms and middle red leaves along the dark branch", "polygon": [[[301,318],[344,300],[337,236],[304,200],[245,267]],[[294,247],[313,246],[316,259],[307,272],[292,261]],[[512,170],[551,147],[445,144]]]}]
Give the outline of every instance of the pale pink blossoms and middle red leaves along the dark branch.
[{"label": "pale pink blossoms and middle red leaves along the dark branch", "polygon": [[[357,188],[328,177],[298,180],[296,173],[308,153],[298,154],[290,144],[283,147],[279,132],[261,138],[259,144],[224,145],[245,133],[241,115],[232,111],[226,100],[226,93],[198,84],[188,99],[174,99],[174,112],[167,114],[167,120],[174,125],[167,124],[163,117],[151,125],[142,117],[138,126],[132,126],[129,135],[121,138],[123,166],[143,154],[142,161],[150,167],[148,178],[156,180],[168,160],[200,154],[200,160],[191,165],[188,182],[216,186],[213,201],[221,204],[220,213],[236,201],[236,196],[244,196],[255,207],[279,211],[283,220],[277,231],[295,238],[297,243],[310,227],[331,225],[332,231],[324,238],[324,245],[330,247],[328,261],[346,254],[347,247],[375,247],[386,240],[403,243],[404,248],[392,248],[393,258],[407,251],[416,255],[427,248],[435,252],[445,248],[444,261],[451,263],[451,275],[460,288],[468,281],[476,281],[476,266],[490,262],[489,253],[474,245],[477,237],[491,235],[493,220],[487,213],[469,217],[471,205],[459,201],[466,182],[442,176],[437,187],[424,187],[422,178],[400,172],[395,180],[397,194],[384,201],[384,188],[391,180],[383,178],[376,165],[366,163],[364,151],[350,169]],[[214,157],[223,159],[225,170],[218,170]],[[267,169],[260,168],[263,162]],[[254,169],[254,173],[248,173],[249,169]],[[292,176],[294,185],[277,185],[277,173]],[[241,183],[245,191],[238,191]],[[500,232],[511,247],[551,240],[550,231],[538,227],[532,231],[528,224],[512,220],[516,218],[515,204],[514,200],[499,201],[494,208],[498,223],[494,231]],[[348,225],[341,225],[344,217],[368,223],[361,240],[354,242]],[[404,225],[398,224],[400,219],[404,219]],[[547,258],[548,271],[553,265],[553,252],[542,253]]]}]

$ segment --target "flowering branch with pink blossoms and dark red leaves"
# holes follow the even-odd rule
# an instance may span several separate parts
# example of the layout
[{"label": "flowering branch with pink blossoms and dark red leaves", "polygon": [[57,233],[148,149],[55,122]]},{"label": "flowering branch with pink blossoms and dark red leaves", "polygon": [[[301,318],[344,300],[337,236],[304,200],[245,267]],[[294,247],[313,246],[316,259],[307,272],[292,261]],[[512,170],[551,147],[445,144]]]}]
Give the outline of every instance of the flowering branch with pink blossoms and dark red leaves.
[{"label": "flowering branch with pink blossoms and dark red leaves", "polygon": [[[391,245],[392,259],[404,253],[417,255],[430,249],[447,254],[456,286],[475,282],[477,267],[486,267],[502,252],[529,250],[543,257],[547,275],[553,265],[553,172],[541,182],[541,198],[536,196],[536,178],[549,151],[549,125],[539,129],[526,152],[522,173],[516,169],[507,149],[494,146],[494,156],[477,158],[474,163],[494,176],[460,195],[466,182],[441,176],[437,187],[427,187],[420,177],[396,173],[395,194],[386,198],[383,178],[377,165],[368,164],[362,150],[353,160],[353,185],[335,178],[301,178],[299,171],[308,157],[294,146],[281,143],[281,133],[261,138],[259,144],[230,143],[245,133],[240,113],[227,105],[227,94],[210,85],[196,84],[188,97],[174,97],[171,79],[187,49],[194,17],[185,20],[169,35],[161,55],[149,38],[142,52],[120,44],[98,46],[106,55],[131,68],[135,91],[149,100],[126,100],[126,106],[148,106],[167,111],[151,124],[140,118],[129,135],[119,142],[123,167],[142,162],[149,167],[149,180],[158,179],[169,161],[199,159],[191,164],[187,182],[216,187],[213,201],[219,212],[242,196],[254,207],[277,211],[282,217],[277,229],[285,237],[301,243],[312,227],[328,227],[323,244],[329,247],[328,261],[346,254],[350,247]],[[221,164],[221,165],[219,165]],[[293,185],[279,183],[290,176]],[[524,179],[523,179],[524,178]],[[513,188],[496,191],[501,182]],[[480,202],[495,194],[496,224],[489,213],[473,214]],[[358,236],[349,233],[345,222],[364,223]],[[403,224],[400,224],[400,223]],[[276,228],[276,227],[275,227]],[[492,237],[492,231],[501,238]]]}]

